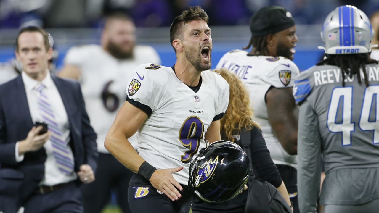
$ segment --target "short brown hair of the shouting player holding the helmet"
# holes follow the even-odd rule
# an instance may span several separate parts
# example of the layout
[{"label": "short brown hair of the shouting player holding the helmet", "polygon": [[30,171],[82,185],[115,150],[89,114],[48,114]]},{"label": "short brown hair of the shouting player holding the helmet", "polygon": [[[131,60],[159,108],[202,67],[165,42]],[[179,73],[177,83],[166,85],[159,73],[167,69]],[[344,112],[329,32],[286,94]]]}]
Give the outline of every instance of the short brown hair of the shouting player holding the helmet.
[{"label": "short brown hair of the shouting player holding the helmet", "polygon": [[171,46],[174,39],[179,38],[180,34],[182,33],[183,24],[193,20],[204,20],[208,23],[208,15],[200,6],[190,6],[188,9],[184,10],[182,14],[175,17],[170,27]]}]

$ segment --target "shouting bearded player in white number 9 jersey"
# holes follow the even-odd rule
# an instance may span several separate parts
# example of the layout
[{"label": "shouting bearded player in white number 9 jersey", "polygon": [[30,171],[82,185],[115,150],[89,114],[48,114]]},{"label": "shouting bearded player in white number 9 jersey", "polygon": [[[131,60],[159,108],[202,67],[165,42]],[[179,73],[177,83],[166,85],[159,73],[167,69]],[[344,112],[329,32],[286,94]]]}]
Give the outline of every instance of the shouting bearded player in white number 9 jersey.
[{"label": "shouting bearded player in white number 9 jersey", "polygon": [[[136,174],[129,183],[132,212],[177,213],[190,201],[189,163],[220,140],[229,85],[211,67],[208,16],[189,7],[170,27],[172,67],[138,66],[127,81],[127,99],[105,138],[105,147]],[[138,132],[137,132],[138,131]],[[138,149],[130,136],[137,132]]]}]

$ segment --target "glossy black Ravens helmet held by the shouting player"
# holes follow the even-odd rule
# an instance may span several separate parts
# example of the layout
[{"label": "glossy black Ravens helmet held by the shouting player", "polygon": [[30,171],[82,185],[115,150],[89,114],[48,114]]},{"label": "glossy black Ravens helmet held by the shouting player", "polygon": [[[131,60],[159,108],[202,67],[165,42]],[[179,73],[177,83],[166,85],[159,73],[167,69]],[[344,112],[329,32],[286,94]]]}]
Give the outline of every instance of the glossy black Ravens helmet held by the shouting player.
[{"label": "glossy black Ravens helmet held by the shouting player", "polygon": [[249,178],[249,158],[230,141],[216,141],[189,165],[188,187],[205,202],[224,202],[238,195]]}]

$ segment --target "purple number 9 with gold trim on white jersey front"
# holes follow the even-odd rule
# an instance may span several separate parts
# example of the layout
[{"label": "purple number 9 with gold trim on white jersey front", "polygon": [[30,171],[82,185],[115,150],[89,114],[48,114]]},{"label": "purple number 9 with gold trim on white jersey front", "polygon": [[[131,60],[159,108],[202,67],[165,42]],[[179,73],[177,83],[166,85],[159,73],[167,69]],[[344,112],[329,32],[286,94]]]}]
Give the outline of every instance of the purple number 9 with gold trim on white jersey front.
[{"label": "purple number 9 with gold trim on white jersey front", "polygon": [[199,149],[200,139],[203,138],[204,124],[199,117],[188,117],[180,128],[179,140],[182,145],[189,150],[181,155],[180,160],[183,163],[191,162],[193,155]]}]

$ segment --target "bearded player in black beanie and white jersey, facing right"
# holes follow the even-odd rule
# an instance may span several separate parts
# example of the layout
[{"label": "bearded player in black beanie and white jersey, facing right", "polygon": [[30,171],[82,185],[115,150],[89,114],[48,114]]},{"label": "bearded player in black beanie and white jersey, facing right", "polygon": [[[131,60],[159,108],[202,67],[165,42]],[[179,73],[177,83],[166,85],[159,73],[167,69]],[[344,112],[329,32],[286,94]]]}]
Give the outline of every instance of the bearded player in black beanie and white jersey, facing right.
[{"label": "bearded player in black beanie and white jersey, facing right", "polygon": [[251,51],[230,51],[216,67],[226,67],[246,83],[254,119],[261,126],[294,212],[299,212],[296,196],[298,111],[292,97],[293,78],[299,74],[292,62],[298,41],[295,22],[285,8],[266,6],[253,14],[250,30],[251,40],[244,49],[253,46]]}]

